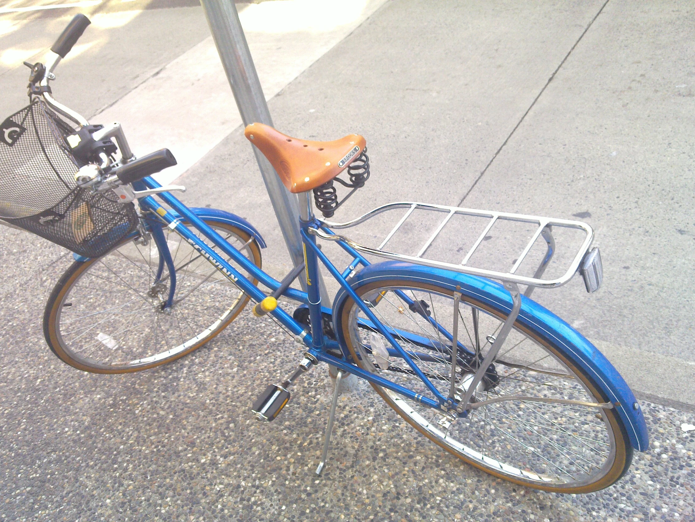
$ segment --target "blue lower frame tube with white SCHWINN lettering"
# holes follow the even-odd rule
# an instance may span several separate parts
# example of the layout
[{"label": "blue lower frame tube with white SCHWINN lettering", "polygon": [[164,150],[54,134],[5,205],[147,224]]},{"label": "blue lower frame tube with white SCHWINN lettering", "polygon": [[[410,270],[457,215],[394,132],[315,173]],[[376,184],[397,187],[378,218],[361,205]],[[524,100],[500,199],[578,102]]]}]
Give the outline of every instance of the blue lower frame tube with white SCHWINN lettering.
[{"label": "blue lower frame tube with white SCHWINN lettering", "polygon": [[[204,258],[211,262],[215,267],[224,273],[227,278],[229,278],[235,285],[243,290],[245,294],[251,296],[256,302],[263,301],[265,294],[261,292],[255,285],[253,285],[250,280],[245,278],[242,273],[237,271],[231,266],[224,258],[210,249],[210,247],[203,242],[199,237],[192,233],[186,226],[181,225],[179,220],[175,219],[170,212],[167,212],[161,205],[158,205],[152,196],[142,198],[140,200],[140,205],[145,208],[149,208],[156,215],[160,216],[161,219],[167,224],[169,228],[174,230],[177,234],[181,235],[186,242],[193,246],[193,248],[199,252]],[[284,326],[286,326],[294,335],[300,335],[304,332],[304,328],[292,319],[287,312],[282,310],[282,308],[277,307],[275,310],[270,312],[274,317],[276,317]]]}]

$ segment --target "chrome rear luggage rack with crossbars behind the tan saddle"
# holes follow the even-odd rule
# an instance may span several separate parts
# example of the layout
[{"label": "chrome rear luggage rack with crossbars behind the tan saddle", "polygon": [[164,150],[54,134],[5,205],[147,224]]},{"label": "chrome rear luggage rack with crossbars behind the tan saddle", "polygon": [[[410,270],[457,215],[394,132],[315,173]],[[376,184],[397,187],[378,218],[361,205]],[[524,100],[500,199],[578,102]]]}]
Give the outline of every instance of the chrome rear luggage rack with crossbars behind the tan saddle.
[{"label": "chrome rear luggage rack with crossbars behind the tan saddle", "polygon": [[[511,214],[508,212],[496,212],[492,210],[475,210],[471,208],[450,207],[447,205],[434,205],[431,203],[399,201],[397,203],[389,203],[387,205],[377,207],[373,210],[370,210],[370,212],[363,214],[361,217],[358,217],[357,219],[352,219],[351,221],[346,221],[345,223],[332,223],[331,221],[323,220],[321,221],[321,223],[325,225],[325,227],[327,228],[340,230],[343,228],[357,226],[363,223],[364,221],[367,221],[368,219],[375,217],[377,214],[381,214],[382,212],[386,212],[388,210],[395,210],[398,208],[404,208],[406,209],[406,212],[400,218],[398,223],[396,223],[395,226],[391,229],[391,231],[386,235],[386,237],[384,237],[384,240],[381,242],[381,244],[379,244],[379,246],[377,247],[361,245],[357,242],[352,241],[352,239],[349,239],[342,235],[331,234],[327,230],[312,229],[311,231],[312,233],[316,234],[318,237],[322,239],[327,239],[329,241],[343,240],[359,252],[370,255],[377,255],[382,258],[411,262],[414,264],[423,264],[427,267],[443,268],[461,273],[468,273],[475,276],[483,276],[486,278],[500,280],[505,283],[528,285],[528,289],[525,292],[525,295],[527,296],[530,295],[530,293],[535,287],[557,288],[559,286],[564,285],[574,276],[574,274],[578,270],[582,271],[582,276],[584,276],[584,282],[587,284],[587,291],[589,292],[594,292],[596,289],[598,289],[598,285],[600,285],[600,280],[603,278],[603,271],[600,266],[600,255],[598,255],[598,249],[593,249],[591,251],[591,256],[587,255],[591,247],[591,241],[594,239],[594,230],[592,230],[591,226],[587,225],[586,223],[582,223],[582,221],[570,221],[568,219],[552,219],[548,217],[530,216],[525,214]],[[432,231],[431,235],[427,238],[425,243],[422,244],[416,251],[414,251],[414,254],[405,255],[402,253],[395,253],[386,250],[386,245],[389,244],[389,241],[391,241],[393,235],[395,235],[395,233],[403,226],[403,224],[413,215],[413,213],[416,210],[430,210],[433,212],[442,212],[446,215],[439,222],[439,224],[436,225],[436,227]],[[440,235],[445,226],[456,214],[488,218],[489,221],[486,224],[486,226],[484,226],[482,232],[477,237],[475,242],[473,242],[473,245],[470,247],[470,249],[468,249],[466,255],[464,255],[460,262],[444,262],[425,258],[424,256],[427,253],[427,250],[430,249],[430,246],[432,246],[432,242],[434,242],[436,237]],[[500,221],[520,221],[523,223],[534,224],[537,226],[537,228],[530,237],[528,243],[522,249],[520,255],[518,255],[518,258],[514,260],[513,266],[509,269],[509,271],[503,272],[468,266],[468,262],[471,260],[471,257],[473,256],[475,251],[477,251],[477,249],[480,247],[482,241],[486,239],[486,237],[488,237],[487,235],[493,228],[493,226]],[[583,231],[584,237],[581,242],[580,248],[573,255],[569,267],[567,267],[564,274],[557,278],[546,280],[542,279],[541,276],[543,276],[543,272],[546,270],[548,263],[553,258],[553,254],[555,253],[555,239],[553,238],[553,226]],[[545,240],[547,246],[546,254],[543,256],[541,263],[539,264],[539,267],[537,268],[537,270],[534,273],[534,276],[532,277],[518,275],[516,271],[519,269],[519,267],[521,267],[523,260],[527,257],[528,253],[532,249],[532,246],[537,241],[537,239],[539,239],[539,237],[542,237]],[[584,263],[582,263],[582,261],[584,260],[585,256],[587,257],[587,259],[591,258],[591,267],[583,266]],[[589,287],[589,283],[587,283],[587,275],[584,274],[585,268],[591,269],[591,277],[594,278],[592,279],[594,283],[591,283],[591,288]]]}]

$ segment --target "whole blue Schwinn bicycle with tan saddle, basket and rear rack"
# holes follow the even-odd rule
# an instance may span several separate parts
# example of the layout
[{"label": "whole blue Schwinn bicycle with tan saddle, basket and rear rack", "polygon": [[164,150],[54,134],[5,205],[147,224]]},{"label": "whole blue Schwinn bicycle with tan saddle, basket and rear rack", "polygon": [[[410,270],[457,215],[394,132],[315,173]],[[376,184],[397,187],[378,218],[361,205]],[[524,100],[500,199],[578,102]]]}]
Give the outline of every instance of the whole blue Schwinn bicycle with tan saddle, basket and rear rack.
[{"label": "whole blue Schwinn bicycle with tan saddle, basket and rear rack", "polygon": [[[97,373],[156,367],[208,342],[253,301],[256,316],[272,317],[305,349],[297,370],[255,401],[263,421],[281,413],[302,373],[325,362],[338,369],[338,384],[348,373],[367,380],[435,444],[525,487],[596,491],[628,471],[633,450],[648,448],[644,416],[623,378],[530,299],[534,288],[559,287],[577,272],[587,291],[598,289],[603,271],[587,224],[417,202],[332,223],[313,206],[331,217],[340,204],[335,182],[352,192],[365,185],[364,138],[306,141],[256,123],[246,137],[300,201],[304,264],[275,280],[261,269],[265,242],[251,224],[188,208],[170,194],[183,187],[150,177],[175,165],[169,151],[135,158],[120,125],[90,125],[51,97],[56,65],[88,24],[78,15],[51,48],[52,62],[28,64],[31,103],[3,122],[0,136],[0,217],[74,252],[44,314],[47,343],[61,360]],[[336,233],[386,215],[395,219],[378,246]],[[466,217],[486,224],[459,260],[443,259],[438,249],[468,233]],[[428,219],[434,225],[416,249],[390,246]],[[505,223],[532,226],[530,238],[511,268],[480,267],[475,255]],[[558,229],[582,239],[562,271],[543,279]],[[337,244],[352,262],[338,269],[319,241]],[[537,267],[522,275],[539,247]],[[371,256],[386,261],[372,264]],[[340,285],[332,308],[322,307],[319,264]],[[291,287],[297,278],[306,292]],[[297,307],[286,311],[280,298]],[[317,473],[337,394],[338,385]]]}]

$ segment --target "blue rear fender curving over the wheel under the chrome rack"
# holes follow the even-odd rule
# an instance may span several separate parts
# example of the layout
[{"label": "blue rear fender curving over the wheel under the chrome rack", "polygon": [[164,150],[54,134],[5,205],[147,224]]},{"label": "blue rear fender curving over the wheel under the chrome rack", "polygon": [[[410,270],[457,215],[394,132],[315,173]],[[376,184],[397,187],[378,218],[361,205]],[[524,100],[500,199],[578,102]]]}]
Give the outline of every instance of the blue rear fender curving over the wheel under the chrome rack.
[{"label": "blue rear fender curving over the wheel under the chrome rack", "polygon": [[[480,303],[498,310],[505,310],[505,312],[512,310],[512,296],[498,283],[489,279],[468,276],[465,273],[405,262],[386,261],[370,264],[350,280],[350,286],[357,289],[375,281],[393,279],[414,283],[432,283],[451,291],[458,285],[463,294]],[[341,288],[333,304],[334,329],[343,348],[345,347],[345,339],[343,339],[342,328],[339,323],[347,297],[347,292]],[[555,346],[590,376],[596,387],[603,393],[605,400],[616,405],[616,412],[623,421],[626,435],[628,435],[632,447],[639,451],[646,451],[649,447],[649,437],[641,407],[639,407],[630,387],[603,353],[600,353],[586,337],[553,312],[529,298],[521,298],[521,312],[519,312],[518,321],[534,334]]]}]

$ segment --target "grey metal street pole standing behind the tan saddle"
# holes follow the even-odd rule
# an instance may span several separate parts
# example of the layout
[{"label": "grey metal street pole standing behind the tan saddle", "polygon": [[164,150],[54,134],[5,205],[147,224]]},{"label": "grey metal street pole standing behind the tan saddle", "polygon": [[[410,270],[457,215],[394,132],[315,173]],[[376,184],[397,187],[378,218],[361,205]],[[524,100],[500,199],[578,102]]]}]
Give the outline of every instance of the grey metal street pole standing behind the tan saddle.
[{"label": "grey metal street pole standing behind the tan saddle", "polygon": [[[227,74],[231,92],[234,93],[236,106],[244,125],[259,122],[272,126],[268,104],[261,88],[254,61],[246,42],[244,30],[239,21],[234,0],[201,0],[205,17],[215,40],[215,46],[220,54],[224,72]],[[288,191],[277,176],[275,169],[263,153],[252,146],[256,161],[261,169],[265,189],[268,190],[272,208],[282,230],[282,236],[295,267],[304,262],[302,237],[299,229],[299,204],[297,196]],[[300,278],[302,288],[305,281]],[[319,281],[321,301],[324,306],[330,306],[330,298],[323,281]]]}]

